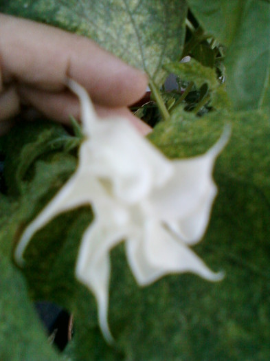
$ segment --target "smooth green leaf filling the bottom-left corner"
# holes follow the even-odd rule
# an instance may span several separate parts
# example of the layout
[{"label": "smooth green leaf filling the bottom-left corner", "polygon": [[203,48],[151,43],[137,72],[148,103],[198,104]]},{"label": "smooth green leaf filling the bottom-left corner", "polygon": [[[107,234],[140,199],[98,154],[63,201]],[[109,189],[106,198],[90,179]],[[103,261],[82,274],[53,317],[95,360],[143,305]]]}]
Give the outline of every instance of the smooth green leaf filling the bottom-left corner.
[{"label": "smooth green leaf filling the bottom-left corner", "polygon": [[3,361],[64,360],[49,347],[45,330],[27,297],[25,280],[1,255],[0,359]]}]

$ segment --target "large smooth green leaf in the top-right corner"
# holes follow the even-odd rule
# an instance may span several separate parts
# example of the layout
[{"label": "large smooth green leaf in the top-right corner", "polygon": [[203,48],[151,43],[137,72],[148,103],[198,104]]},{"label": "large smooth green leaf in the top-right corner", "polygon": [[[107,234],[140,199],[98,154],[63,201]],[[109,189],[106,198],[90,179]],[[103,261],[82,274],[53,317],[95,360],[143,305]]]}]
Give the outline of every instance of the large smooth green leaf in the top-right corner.
[{"label": "large smooth green leaf in the top-right corner", "polygon": [[[188,0],[188,3],[205,31],[227,45],[227,91],[235,109],[266,105],[270,3],[262,0]],[[269,105],[269,98],[267,102]]]}]

